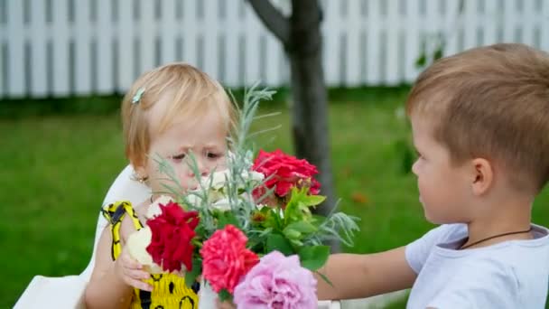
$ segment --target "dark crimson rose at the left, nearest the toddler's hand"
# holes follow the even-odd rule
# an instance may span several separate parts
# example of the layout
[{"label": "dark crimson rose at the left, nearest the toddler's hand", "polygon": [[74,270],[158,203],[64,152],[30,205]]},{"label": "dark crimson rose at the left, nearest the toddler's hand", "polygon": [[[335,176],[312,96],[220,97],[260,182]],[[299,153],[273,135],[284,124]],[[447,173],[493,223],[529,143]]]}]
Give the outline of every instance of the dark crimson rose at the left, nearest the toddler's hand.
[{"label": "dark crimson rose at the left, nearest the toddler's hand", "polygon": [[183,211],[181,206],[173,201],[167,205],[160,204],[162,214],[147,220],[153,237],[147,252],[153,257],[154,263],[164,271],[181,270],[183,264],[187,270],[192,270],[191,239],[196,235],[194,229],[199,224],[198,211]]}]

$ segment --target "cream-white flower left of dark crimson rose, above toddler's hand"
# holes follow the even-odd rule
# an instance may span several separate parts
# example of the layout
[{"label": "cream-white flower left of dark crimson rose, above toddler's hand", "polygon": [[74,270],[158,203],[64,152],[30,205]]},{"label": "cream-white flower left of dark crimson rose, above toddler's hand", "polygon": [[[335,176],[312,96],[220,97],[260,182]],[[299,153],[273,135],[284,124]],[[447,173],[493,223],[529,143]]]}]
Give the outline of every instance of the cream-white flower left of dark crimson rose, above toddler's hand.
[{"label": "cream-white flower left of dark crimson rose, above toddler's hand", "polygon": [[151,257],[146,249],[151,243],[152,238],[153,232],[148,226],[145,226],[143,229],[139,229],[135,231],[135,233],[130,234],[126,242],[126,247],[130,256],[143,265],[145,270],[151,274],[160,274],[163,272],[162,268],[154,263],[153,257]]}]

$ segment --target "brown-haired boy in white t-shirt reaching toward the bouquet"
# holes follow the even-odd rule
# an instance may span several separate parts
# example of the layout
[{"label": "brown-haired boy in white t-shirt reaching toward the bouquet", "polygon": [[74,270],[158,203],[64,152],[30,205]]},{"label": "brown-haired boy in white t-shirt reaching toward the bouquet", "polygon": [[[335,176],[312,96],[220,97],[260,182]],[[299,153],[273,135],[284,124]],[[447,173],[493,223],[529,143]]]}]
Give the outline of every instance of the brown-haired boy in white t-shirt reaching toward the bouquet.
[{"label": "brown-haired boy in white t-shirt reaching toward the bouquet", "polygon": [[402,248],[331,256],[319,298],[412,287],[408,308],[544,308],[549,231],[530,220],[549,178],[549,55],[496,44],[436,61],[406,112],[423,211],[441,226]]}]

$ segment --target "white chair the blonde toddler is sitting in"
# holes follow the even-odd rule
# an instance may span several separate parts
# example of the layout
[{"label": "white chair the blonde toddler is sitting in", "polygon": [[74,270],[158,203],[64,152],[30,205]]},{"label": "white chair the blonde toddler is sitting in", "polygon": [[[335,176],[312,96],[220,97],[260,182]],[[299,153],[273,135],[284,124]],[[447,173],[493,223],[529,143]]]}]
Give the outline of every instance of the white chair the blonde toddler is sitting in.
[{"label": "white chair the blonde toddler is sitting in", "polygon": [[[136,204],[144,201],[151,195],[149,187],[131,179],[133,173],[134,169],[130,165],[126,166],[122,173],[116,177],[115,183],[108,189],[103,204],[122,200],[128,200]],[[93,253],[88,267],[80,275],[60,277],[34,276],[29,286],[24,290],[23,295],[19,297],[14,309],[85,308],[83,299],[84,289],[88,284],[91,271],[95,265],[99,236],[106,225],[107,220],[99,214]],[[319,308],[340,309],[340,302],[320,301]]]}]

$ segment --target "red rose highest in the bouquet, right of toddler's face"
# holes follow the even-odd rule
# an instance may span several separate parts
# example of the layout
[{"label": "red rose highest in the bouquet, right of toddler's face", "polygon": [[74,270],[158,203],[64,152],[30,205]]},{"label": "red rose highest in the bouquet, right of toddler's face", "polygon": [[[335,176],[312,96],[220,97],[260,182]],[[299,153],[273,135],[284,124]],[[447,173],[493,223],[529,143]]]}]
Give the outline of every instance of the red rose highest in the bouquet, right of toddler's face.
[{"label": "red rose highest in the bouquet, right of toddler's face", "polygon": [[[274,175],[265,182],[265,187],[272,189],[276,185],[275,194],[279,197],[284,197],[294,186],[309,187],[309,192],[314,195],[318,194],[321,189],[321,183],[313,178],[315,174],[319,173],[316,166],[307,160],[299,160],[295,156],[286,155],[280,149],[272,153],[260,150],[252,169],[264,173],[265,178]],[[254,191],[256,198],[263,194],[265,194],[265,188],[257,188]]]}]

